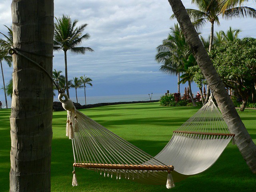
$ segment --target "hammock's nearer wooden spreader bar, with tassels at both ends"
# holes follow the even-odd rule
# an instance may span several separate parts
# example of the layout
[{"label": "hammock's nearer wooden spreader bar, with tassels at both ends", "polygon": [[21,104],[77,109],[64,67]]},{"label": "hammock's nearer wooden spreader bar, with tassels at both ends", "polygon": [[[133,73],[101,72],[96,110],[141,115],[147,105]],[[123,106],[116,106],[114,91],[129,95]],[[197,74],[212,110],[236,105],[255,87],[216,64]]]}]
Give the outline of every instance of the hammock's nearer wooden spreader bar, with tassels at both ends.
[{"label": "hammock's nearer wooden spreader bar, with tassels at both ends", "polygon": [[152,166],[152,165],[128,165],[128,164],[97,164],[97,163],[74,163],[74,167],[82,168],[100,168],[100,169],[122,169],[122,170],[151,170],[151,171],[173,171],[170,166]]}]

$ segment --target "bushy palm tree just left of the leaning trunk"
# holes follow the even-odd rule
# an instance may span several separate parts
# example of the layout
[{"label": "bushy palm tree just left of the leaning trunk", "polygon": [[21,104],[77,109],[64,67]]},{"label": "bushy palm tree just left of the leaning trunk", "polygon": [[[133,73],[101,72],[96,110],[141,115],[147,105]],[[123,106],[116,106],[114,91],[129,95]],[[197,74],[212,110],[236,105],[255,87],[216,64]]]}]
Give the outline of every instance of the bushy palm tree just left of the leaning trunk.
[{"label": "bushy palm tree just left of the leaning trunk", "polygon": [[[183,71],[182,60],[188,57],[190,51],[178,24],[170,29],[171,33],[168,38],[164,39],[162,45],[157,47],[156,61],[163,63],[160,66],[160,71],[167,74],[176,74],[178,82],[180,82],[180,72]],[[180,84],[178,83],[179,92]]]}]

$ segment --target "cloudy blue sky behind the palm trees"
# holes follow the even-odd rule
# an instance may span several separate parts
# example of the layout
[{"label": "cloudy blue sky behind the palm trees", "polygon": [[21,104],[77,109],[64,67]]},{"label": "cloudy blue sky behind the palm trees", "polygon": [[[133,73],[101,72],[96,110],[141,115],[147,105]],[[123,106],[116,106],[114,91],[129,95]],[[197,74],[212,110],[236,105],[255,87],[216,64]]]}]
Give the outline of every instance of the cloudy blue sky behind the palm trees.
[{"label": "cloudy blue sky behind the palm trees", "polygon": [[[185,8],[196,8],[189,0],[182,2]],[[7,34],[4,25],[12,24],[10,4],[11,0],[0,1],[0,32],[4,34]],[[250,1],[244,6],[256,8],[256,3]],[[68,79],[83,75],[92,79],[93,86],[86,88],[86,96],[177,92],[177,77],[160,72],[160,64],[155,61],[156,47],[177,23],[169,19],[173,12],[168,0],[54,0],[54,16],[62,14],[79,20],[78,26],[88,24],[84,32],[91,37],[81,46],[90,47],[94,52],[84,55],[68,52],[67,55]],[[255,19],[220,19],[220,26],[215,25],[214,31],[227,31],[230,26],[242,30],[240,38],[256,38]],[[208,37],[210,24],[200,32]],[[61,70],[64,75],[64,52],[54,52],[53,69]],[[7,83],[13,69],[3,62],[3,70]],[[181,93],[185,86],[188,85],[181,84]],[[197,91],[196,84],[192,83],[192,92]],[[83,94],[83,88],[78,89],[78,96]],[[70,89],[70,97],[74,96],[75,90]],[[0,100],[4,101],[2,89]]]}]

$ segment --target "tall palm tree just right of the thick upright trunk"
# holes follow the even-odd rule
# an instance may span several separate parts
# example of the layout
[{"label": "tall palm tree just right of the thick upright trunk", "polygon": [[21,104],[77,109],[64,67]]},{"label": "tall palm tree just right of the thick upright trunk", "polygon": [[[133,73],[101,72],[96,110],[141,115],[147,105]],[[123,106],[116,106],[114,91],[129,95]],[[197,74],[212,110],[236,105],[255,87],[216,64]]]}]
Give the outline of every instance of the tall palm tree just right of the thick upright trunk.
[{"label": "tall palm tree just right of the thick upright trunk", "polygon": [[[54,50],[64,51],[65,58],[65,77],[66,85],[68,85],[68,65],[67,65],[67,51],[70,50],[72,53],[76,54],[85,54],[86,51],[94,51],[90,47],[77,47],[82,44],[84,40],[88,40],[90,35],[88,33],[83,34],[88,24],[82,24],[79,27],[76,27],[78,20],[73,22],[70,19],[70,16],[62,15],[62,17],[56,18],[57,22],[54,24]],[[68,87],[66,87],[67,95],[69,98]]]}]

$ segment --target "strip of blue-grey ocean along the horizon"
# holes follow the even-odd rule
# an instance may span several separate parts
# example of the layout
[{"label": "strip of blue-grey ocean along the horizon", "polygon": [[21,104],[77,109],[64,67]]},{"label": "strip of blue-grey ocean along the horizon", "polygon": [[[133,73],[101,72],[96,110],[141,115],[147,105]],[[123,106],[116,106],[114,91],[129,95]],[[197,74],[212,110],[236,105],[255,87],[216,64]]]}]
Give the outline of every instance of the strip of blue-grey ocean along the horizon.
[{"label": "strip of blue-grey ocean along the horizon", "polygon": [[[150,94],[151,100],[159,100],[163,94]],[[140,95],[114,95],[114,96],[86,96],[86,104],[96,103],[112,103],[112,102],[126,102],[126,101],[149,101],[148,94]],[[76,102],[75,97],[70,98],[73,102]],[[85,104],[84,97],[78,97],[78,103]],[[58,101],[58,97],[54,97],[54,101]],[[11,108],[12,100],[7,100],[8,108]],[[6,108],[5,101],[2,100],[3,108]]]}]

